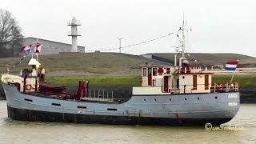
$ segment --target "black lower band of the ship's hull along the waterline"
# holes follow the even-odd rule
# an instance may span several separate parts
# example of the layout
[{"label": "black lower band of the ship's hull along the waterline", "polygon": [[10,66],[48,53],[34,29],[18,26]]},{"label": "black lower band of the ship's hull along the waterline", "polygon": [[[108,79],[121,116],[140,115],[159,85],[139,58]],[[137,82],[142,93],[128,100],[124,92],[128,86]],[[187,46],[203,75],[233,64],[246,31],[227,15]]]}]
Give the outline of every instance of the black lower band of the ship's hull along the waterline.
[{"label": "black lower band of the ship's hull along the waterline", "polygon": [[229,122],[232,118],[145,118],[110,115],[90,114],[62,114],[37,110],[16,109],[7,106],[8,117],[21,121],[38,122],[77,122],[77,123],[101,123],[112,125],[155,125],[155,126],[203,126],[207,122],[220,125]]}]

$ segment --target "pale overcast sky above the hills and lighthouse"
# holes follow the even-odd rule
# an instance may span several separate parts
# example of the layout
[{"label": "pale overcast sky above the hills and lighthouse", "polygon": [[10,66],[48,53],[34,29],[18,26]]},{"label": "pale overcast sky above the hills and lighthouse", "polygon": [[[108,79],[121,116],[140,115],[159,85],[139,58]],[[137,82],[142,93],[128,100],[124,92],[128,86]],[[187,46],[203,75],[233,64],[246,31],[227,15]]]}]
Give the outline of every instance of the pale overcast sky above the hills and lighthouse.
[{"label": "pale overcast sky above the hills and lighthouse", "polygon": [[[118,48],[117,38],[128,46],[176,32],[184,11],[192,29],[187,36],[189,53],[254,57],[255,6],[254,0],[0,0],[0,8],[13,14],[25,37],[71,43],[67,22],[75,17],[82,23],[78,45],[86,50]],[[122,52],[175,52],[176,43],[174,34]]]}]

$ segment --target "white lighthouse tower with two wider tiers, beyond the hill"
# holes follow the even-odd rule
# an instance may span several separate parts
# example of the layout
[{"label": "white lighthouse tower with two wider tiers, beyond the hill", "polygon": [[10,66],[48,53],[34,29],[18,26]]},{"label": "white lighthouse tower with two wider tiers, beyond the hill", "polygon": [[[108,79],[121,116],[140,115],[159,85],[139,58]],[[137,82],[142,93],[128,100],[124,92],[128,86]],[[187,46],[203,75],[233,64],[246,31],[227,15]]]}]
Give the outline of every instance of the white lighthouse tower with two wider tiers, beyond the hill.
[{"label": "white lighthouse tower with two wider tiers, beyond the hill", "polygon": [[81,23],[73,18],[72,21],[68,22],[67,26],[71,26],[71,32],[68,36],[72,37],[72,51],[76,52],[78,51],[78,36],[81,36],[78,32],[78,26],[81,26]]}]

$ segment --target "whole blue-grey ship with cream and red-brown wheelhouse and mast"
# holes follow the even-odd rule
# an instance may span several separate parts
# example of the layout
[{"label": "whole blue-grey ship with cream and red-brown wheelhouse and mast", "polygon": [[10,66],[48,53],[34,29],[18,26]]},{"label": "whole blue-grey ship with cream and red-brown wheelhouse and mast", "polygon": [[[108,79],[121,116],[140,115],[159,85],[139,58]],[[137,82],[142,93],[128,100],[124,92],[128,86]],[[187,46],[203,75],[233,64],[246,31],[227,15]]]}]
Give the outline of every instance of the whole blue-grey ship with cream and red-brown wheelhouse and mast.
[{"label": "whole blue-grey ship with cream and red-brown wheelhouse and mast", "polygon": [[[180,30],[184,31],[184,21]],[[238,82],[213,83],[213,71],[190,66],[184,51],[182,41],[182,56],[174,58],[173,66],[141,66],[141,86],[132,86],[131,93],[93,90],[86,80],[78,82],[76,94],[68,93],[66,86],[47,82],[46,70],[32,57],[28,63],[31,70],[2,74],[8,118],[157,126],[229,122],[240,106]],[[129,96],[118,99],[117,94]]]}]

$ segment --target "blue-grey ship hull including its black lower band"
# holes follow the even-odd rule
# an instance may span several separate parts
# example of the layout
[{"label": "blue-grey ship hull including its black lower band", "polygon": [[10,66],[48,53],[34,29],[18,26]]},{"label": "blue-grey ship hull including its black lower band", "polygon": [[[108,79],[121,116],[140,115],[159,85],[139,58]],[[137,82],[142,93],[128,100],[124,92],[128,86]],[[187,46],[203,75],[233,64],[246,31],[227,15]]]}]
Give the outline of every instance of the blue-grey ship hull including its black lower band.
[{"label": "blue-grey ship hull including its black lower band", "polygon": [[237,114],[238,92],[133,95],[124,103],[78,102],[20,93],[2,83],[8,117],[22,121],[130,125],[219,125]]}]

